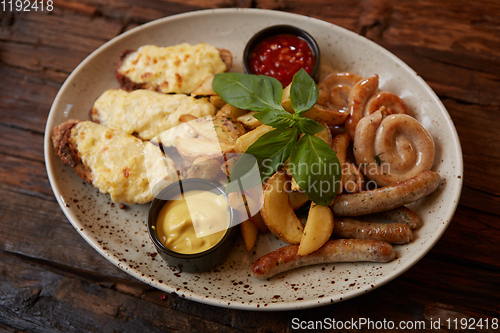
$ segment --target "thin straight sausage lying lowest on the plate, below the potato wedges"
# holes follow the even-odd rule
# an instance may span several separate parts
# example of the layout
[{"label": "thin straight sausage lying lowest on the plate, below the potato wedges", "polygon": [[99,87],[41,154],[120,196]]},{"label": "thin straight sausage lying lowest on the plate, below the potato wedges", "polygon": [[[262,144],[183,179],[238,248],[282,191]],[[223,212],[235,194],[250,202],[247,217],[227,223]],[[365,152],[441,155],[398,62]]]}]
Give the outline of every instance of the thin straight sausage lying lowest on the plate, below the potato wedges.
[{"label": "thin straight sausage lying lowest on the plate, below the potato wedges", "polygon": [[317,251],[299,256],[298,245],[289,245],[266,254],[252,265],[252,275],[267,279],[294,268],[334,262],[389,262],[396,257],[387,242],[361,239],[329,240]]}]

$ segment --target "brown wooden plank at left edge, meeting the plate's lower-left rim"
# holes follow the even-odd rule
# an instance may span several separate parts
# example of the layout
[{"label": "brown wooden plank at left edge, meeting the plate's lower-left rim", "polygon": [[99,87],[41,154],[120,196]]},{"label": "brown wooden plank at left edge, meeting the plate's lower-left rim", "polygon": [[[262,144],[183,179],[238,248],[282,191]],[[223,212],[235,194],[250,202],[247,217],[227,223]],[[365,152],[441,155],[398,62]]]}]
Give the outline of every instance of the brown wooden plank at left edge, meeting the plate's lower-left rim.
[{"label": "brown wooden plank at left edge, meeting the plate's lower-left rim", "polygon": [[0,249],[82,271],[131,278],[85,242],[55,200],[28,197],[4,185],[0,197]]}]

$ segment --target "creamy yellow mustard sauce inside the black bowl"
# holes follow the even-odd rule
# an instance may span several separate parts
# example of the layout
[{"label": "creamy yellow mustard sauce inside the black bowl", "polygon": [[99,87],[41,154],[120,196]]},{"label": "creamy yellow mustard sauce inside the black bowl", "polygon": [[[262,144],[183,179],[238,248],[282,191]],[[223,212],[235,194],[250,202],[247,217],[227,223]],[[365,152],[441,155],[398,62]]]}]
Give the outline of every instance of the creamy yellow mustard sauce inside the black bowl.
[{"label": "creamy yellow mustard sauce inside the black bowl", "polygon": [[226,198],[191,190],[169,200],[158,214],[157,232],[163,245],[177,253],[206,251],[224,237],[229,227]]}]

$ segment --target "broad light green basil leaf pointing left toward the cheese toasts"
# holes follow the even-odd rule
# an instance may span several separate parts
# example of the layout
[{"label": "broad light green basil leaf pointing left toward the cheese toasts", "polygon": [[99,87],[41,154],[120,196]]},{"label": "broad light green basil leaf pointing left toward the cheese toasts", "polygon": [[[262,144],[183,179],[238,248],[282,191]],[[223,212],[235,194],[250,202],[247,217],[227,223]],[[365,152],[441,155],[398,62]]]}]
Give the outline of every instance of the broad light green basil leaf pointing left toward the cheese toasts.
[{"label": "broad light green basil leaf pointing left toward the cheese toasts", "polygon": [[283,109],[281,83],[269,76],[219,73],[212,82],[212,89],[226,102],[244,110],[265,111]]}]

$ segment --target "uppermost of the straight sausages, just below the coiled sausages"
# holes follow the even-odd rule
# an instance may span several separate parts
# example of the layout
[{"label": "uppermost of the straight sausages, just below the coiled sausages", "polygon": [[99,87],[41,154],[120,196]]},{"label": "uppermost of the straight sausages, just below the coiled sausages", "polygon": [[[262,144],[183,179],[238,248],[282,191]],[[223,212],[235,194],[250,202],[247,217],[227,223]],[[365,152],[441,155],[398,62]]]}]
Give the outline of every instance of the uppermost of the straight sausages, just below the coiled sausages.
[{"label": "uppermost of the straight sausages, just below the coiled sausages", "polygon": [[434,192],[441,176],[434,171],[376,190],[338,195],[333,202],[333,213],[339,216],[360,216],[380,213],[417,201]]}]

